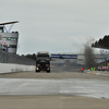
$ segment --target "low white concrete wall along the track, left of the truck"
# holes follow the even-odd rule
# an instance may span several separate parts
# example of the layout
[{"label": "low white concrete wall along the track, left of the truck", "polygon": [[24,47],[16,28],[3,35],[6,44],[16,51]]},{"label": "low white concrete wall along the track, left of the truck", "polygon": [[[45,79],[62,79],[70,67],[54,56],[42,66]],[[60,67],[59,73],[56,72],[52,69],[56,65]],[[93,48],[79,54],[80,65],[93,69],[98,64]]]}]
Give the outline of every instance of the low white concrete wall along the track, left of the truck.
[{"label": "low white concrete wall along the track, left of the truck", "polygon": [[35,65],[0,63],[0,73],[35,71]]}]

